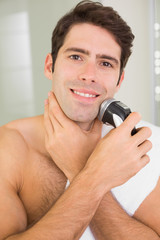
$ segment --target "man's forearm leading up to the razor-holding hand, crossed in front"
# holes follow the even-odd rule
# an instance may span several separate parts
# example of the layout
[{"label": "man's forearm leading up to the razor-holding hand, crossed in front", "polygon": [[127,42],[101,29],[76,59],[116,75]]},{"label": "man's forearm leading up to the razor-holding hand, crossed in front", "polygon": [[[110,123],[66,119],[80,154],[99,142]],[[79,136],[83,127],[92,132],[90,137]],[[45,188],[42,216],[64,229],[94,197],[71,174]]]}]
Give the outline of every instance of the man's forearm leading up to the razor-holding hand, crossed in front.
[{"label": "man's forearm leading up to the razor-holding hand, crossed in front", "polygon": [[38,223],[6,240],[79,239],[91,221],[102,196],[99,183],[91,180],[87,170],[83,171]]}]

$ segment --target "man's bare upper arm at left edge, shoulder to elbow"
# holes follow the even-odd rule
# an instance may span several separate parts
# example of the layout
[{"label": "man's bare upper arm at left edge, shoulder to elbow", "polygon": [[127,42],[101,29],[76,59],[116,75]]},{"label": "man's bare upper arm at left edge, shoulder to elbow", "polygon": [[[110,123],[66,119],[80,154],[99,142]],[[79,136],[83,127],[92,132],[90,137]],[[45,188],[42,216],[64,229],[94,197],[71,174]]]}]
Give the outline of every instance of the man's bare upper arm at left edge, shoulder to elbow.
[{"label": "man's bare upper arm at left edge, shoulder to elbow", "polygon": [[[14,144],[13,144],[14,143]],[[23,156],[21,154],[23,152]],[[15,157],[16,156],[16,157]],[[16,131],[0,128],[0,239],[24,231],[27,214],[18,196],[27,147]]]}]

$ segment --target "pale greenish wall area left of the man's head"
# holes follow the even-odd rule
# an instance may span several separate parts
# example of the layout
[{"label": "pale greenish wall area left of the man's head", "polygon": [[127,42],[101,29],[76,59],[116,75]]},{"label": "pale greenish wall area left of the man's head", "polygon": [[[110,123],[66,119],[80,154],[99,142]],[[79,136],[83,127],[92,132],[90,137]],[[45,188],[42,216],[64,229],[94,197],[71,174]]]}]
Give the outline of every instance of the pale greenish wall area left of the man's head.
[{"label": "pale greenish wall area left of the man's head", "polygon": [[0,125],[42,114],[44,61],[57,20],[78,0],[0,0]]}]

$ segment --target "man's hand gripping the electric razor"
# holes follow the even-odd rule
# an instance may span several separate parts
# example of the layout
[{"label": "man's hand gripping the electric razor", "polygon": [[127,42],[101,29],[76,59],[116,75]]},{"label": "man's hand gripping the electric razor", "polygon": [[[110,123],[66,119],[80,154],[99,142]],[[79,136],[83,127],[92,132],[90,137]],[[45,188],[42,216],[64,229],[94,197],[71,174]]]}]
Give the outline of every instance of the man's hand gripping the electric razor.
[{"label": "man's hand gripping the electric razor", "polygon": [[131,136],[139,121],[140,115],[131,113],[118,128],[100,140],[86,164],[95,178],[110,185],[110,189],[129,180],[149,162],[147,152],[152,144],[147,139],[151,130],[143,127]]}]

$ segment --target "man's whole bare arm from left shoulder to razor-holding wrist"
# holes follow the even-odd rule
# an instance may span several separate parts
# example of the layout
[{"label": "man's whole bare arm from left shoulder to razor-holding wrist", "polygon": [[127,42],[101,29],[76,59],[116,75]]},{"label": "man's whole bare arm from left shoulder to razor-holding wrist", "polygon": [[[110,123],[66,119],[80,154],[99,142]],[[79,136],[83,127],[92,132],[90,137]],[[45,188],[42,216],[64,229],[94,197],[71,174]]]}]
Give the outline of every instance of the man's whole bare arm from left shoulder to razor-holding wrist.
[{"label": "man's whole bare arm from left shoulder to razor-holding wrist", "polygon": [[86,167],[48,213],[27,230],[27,214],[18,191],[28,149],[17,132],[1,128],[0,135],[0,239],[79,239],[109,187],[93,174],[93,167]]}]

